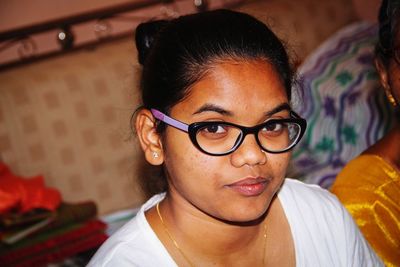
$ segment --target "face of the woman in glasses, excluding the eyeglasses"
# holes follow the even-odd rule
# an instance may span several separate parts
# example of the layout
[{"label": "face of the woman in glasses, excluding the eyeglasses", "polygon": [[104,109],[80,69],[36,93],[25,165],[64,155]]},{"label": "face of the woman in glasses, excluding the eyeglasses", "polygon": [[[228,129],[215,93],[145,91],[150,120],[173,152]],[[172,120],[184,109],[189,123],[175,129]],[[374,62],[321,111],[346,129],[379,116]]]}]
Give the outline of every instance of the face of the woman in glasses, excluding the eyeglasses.
[{"label": "face of the woman in glasses, excluding the eyeglasses", "polygon": [[[288,98],[275,69],[264,61],[216,63],[170,116],[187,124],[225,121],[254,126],[288,118]],[[262,216],[285,177],[290,153],[263,152],[254,135],[225,156],[199,151],[189,135],[167,127],[164,167],[169,197],[200,216],[247,222]]]}]

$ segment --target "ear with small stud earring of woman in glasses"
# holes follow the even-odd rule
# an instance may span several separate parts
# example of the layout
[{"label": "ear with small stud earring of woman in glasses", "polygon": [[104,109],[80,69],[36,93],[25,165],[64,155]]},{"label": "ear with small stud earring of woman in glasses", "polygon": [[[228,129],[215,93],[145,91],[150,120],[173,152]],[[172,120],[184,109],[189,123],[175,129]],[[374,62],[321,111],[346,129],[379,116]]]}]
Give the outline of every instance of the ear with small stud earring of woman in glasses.
[{"label": "ear with small stud earring of woman in glasses", "polygon": [[138,111],[135,127],[146,160],[152,165],[161,165],[164,162],[161,136],[156,132],[156,119],[150,110]]}]

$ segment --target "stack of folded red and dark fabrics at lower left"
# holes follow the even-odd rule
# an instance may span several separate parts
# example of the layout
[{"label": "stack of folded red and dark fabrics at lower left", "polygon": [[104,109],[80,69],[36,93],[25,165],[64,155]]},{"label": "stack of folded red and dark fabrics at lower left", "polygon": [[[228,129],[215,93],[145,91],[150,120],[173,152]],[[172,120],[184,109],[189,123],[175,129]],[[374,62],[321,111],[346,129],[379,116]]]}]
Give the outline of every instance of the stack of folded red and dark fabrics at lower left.
[{"label": "stack of folded red and dark fabrics at lower left", "polygon": [[80,254],[88,260],[108,237],[94,202],[63,202],[43,181],[0,163],[1,266],[46,266]]}]

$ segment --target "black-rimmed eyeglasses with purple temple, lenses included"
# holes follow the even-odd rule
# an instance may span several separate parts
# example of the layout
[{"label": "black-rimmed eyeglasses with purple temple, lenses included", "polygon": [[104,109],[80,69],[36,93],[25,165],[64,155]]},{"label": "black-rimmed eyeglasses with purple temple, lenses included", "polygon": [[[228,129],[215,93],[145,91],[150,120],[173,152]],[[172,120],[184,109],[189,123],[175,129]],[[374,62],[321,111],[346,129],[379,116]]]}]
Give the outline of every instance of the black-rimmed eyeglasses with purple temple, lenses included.
[{"label": "black-rimmed eyeglasses with purple temple, lenses included", "polygon": [[258,145],[269,153],[283,153],[292,149],[303,136],[307,122],[291,111],[291,118],[270,119],[254,127],[205,121],[186,124],[164,113],[151,109],[153,116],[189,134],[193,145],[211,156],[224,156],[235,151],[248,134],[254,134]]}]

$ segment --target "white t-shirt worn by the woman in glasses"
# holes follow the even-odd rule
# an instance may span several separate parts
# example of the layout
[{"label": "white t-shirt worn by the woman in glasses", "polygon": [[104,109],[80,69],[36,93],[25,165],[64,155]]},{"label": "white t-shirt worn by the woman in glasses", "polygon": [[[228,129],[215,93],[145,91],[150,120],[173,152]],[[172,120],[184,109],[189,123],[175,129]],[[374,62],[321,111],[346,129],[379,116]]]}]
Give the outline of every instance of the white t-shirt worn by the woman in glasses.
[{"label": "white t-shirt worn by the woman in glasses", "polygon": [[[88,266],[177,266],[144,212],[165,194],[153,196],[112,235]],[[317,185],[286,179],[278,198],[289,221],[296,266],[383,266],[337,198]]]}]

